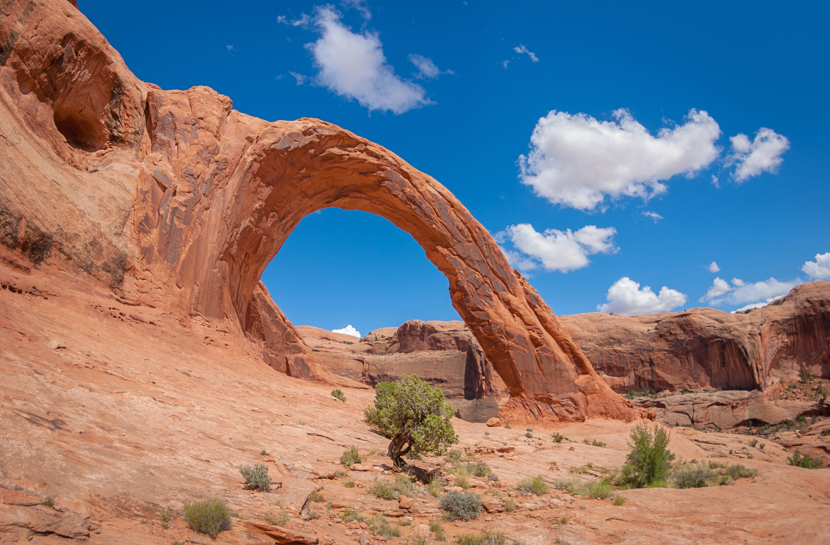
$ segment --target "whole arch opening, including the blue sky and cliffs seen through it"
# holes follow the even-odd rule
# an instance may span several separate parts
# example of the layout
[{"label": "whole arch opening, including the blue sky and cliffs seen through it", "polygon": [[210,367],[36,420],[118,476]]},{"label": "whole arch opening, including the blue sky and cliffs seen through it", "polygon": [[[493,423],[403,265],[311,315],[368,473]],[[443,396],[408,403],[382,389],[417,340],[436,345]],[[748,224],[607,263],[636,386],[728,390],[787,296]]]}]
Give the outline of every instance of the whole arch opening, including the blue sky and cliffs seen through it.
[{"label": "whole arch opening, including the blue sky and cliffs seen through it", "polygon": [[[463,324],[448,326],[426,342],[428,326],[408,327],[405,341],[392,341],[404,322],[461,317],[452,307],[447,277],[412,236],[387,219],[334,208],[309,214],[261,280],[311,347],[324,345],[315,356],[330,371],[369,385],[416,373],[440,387],[464,420],[483,422],[497,415],[492,390],[500,379],[485,369],[477,342],[469,346],[471,333]],[[331,331],[349,325],[366,341],[357,336],[325,341],[322,331],[303,327]],[[443,345],[431,342],[447,350],[435,350]]]}]

